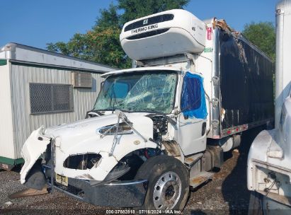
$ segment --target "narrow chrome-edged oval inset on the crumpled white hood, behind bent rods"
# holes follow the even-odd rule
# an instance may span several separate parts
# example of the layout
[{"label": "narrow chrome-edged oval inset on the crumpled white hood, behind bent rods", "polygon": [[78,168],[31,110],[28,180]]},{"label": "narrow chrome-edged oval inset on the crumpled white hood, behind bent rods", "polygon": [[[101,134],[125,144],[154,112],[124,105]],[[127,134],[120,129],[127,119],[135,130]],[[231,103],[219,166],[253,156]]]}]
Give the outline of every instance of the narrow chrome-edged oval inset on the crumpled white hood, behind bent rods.
[{"label": "narrow chrome-edged oval inset on the crumpled white hood, behind bent rods", "polygon": [[[128,122],[129,124],[132,124],[131,122]],[[118,129],[118,134],[132,134],[132,129],[131,127],[126,124],[125,122],[121,122],[118,125],[117,124],[111,124],[105,127],[101,127],[100,129],[97,129],[96,132],[98,134],[103,134],[103,135],[114,135],[116,133],[116,129]]]}]

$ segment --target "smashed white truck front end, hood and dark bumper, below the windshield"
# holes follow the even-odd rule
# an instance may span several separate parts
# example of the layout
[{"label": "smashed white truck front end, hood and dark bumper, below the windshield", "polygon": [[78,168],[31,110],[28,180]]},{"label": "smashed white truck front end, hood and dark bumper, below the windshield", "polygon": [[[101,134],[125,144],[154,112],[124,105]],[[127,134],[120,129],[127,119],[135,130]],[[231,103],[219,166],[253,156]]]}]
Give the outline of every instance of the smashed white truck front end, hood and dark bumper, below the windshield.
[{"label": "smashed white truck front end, hood and dark bumper, below the windshield", "polygon": [[[64,144],[62,135],[55,137],[50,135],[48,129],[36,130],[23,146],[25,165],[21,170],[21,182],[37,190],[48,184],[52,190],[57,189],[101,206],[141,206],[147,192],[147,180],[135,180],[132,170],[138,162],[142,163],[139,149],[155,149],[156,143],[148,140],[151,136],[146,138],[133,127],[132,133],[128,133],[130,135],[118,134],[120,128],[125,127],[124,124],[136,123],[136,120],[130,121],[125,117],[119,112],[114,118],[120,123],[106,127],[103,134],[98,129],[92,136],[94,141],[91,138],[84,140],[81,137],[83,135],[79,139],[78,126],[66,127],[72,129],[71,144],[68,146]],[[152,127],[151,120],[140,118],[144,123],[139,122],[139,126],[143,124],[143,131],[152,134],[152,130],[146,129]],[[89,119],[94,120],[97,119]],[[88,124],[82,124],[81,127],[89,129]],[[110,132],[113,129],[115,131]],[[64,128],[61,130],[64,132]],[[73,141],[78,141],[78,144],[74,146]],[[128,154],[129,151],[132,153]],[[37,161],[40,156],[41,163]]]}]

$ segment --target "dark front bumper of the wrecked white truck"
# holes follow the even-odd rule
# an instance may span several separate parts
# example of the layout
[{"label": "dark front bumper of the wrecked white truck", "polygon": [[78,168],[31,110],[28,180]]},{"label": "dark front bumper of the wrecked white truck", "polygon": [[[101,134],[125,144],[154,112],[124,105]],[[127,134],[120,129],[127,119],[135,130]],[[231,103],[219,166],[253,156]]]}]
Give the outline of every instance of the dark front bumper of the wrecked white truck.
[{"label": "dark front bumper of the wrecked white truck", "polygon": [[[50,171],[47,171],[50,172]],[[47,175],[50,178],[49,175]],[[50,187],[51,183],[49,183]],[[139,207],[147,194],[147,180],[128,180],[90,185],[89,180],[68,178],[68,186],[55,181],[52,189],[103,207]]]}]

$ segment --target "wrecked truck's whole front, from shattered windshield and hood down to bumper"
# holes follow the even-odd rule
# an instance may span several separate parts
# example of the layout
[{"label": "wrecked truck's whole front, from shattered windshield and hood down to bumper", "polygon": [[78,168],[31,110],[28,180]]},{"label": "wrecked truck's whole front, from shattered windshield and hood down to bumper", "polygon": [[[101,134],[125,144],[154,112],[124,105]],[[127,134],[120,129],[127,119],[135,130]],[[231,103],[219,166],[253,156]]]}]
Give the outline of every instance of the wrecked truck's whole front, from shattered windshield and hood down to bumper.
[{"label": "wrecked truck's whole front, from shattered windshield and hood down to bumper", "polygon": [[[126,97],[116,95],[127,79],[122,77],[106,79],[89,118],[30,135],[22,150],[21,183],[36,190],[47,185],[99,206],[142,206],[148,180],[135,176],[144,161],[164,154],[161,136],[173,140],[168,122],[176,122],[166,114],[173,110],[178,76],[176,71],[131,74],[135,87]],[[158,84],[165,95],[149,91]],[[153,112],[154,105],[164,113]]]}]

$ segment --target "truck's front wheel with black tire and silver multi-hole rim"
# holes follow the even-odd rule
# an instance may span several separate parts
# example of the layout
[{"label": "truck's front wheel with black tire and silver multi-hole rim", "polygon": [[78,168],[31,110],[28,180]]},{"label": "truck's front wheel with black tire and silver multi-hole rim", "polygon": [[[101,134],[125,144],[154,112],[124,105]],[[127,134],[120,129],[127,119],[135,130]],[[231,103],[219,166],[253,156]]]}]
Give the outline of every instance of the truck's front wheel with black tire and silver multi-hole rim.
[{"label": "truck's front wheel with black tire and silver multi-hole rim", "polygon": [[136,179],[149,181],[141,209],[183,210],[189,194],[189,173],[171,156],[155,156],[137,170]]}]

